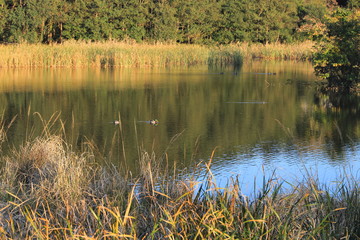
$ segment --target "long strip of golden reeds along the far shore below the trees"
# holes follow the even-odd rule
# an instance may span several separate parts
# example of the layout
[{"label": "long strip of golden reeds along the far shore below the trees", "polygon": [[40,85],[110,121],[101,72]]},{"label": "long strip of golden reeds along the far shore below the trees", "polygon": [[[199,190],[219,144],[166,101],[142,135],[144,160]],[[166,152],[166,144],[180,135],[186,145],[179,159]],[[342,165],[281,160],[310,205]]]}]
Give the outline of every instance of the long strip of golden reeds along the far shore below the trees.
[{"label": "long strip of golden reeds along the far shore below the trees", "polygon": [[124,42],[0,45],[0,67],[169,67],[240,64],[243,58],[306,60],[312,43],[233,44],[221,47]]}]

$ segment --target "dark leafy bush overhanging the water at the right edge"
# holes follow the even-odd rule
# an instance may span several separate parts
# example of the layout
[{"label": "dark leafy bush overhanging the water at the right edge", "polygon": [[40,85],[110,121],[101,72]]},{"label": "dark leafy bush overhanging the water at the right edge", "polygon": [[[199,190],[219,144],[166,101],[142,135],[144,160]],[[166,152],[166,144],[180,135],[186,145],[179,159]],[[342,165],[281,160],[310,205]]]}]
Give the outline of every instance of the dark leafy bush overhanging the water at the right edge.
[{"label": "dark leafy bush overhanging the water at the right edge", "polygon": [[349,90],[360,82],[360,12],[338,9],[327,19],[314,55],[316,73],[329,87]]}]

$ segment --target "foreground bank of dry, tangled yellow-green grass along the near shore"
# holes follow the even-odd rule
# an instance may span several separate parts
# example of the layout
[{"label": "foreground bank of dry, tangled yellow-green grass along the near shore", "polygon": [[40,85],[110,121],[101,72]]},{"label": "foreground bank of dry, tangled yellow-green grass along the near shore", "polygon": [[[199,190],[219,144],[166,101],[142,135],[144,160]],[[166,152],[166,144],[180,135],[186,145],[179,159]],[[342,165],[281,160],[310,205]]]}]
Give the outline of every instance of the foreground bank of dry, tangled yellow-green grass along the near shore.
[{"label": "foreground bank of dry, tangled yellow-green grass along the near shore", "polygon": [[[2,132],[6,128],[2,128]],[[6,144],[6,134],[2,134]],[[355,179],[314,179],[285,188],[273,176],[254,196],[237,179],[218,188],[211,160],[170,174],[139,149],[141,174],[96,164],[92,146],[75,153],[44,134],[2,155],[0,237],[11,239],[358,239]],[[203,179],[196,182],[195,179]]]}]

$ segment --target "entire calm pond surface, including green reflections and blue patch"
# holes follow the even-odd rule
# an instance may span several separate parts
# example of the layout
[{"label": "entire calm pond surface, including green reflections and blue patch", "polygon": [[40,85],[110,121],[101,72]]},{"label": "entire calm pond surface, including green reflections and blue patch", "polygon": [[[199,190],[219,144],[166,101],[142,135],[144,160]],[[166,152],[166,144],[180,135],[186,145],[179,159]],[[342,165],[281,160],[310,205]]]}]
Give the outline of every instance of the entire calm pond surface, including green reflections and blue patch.
[{"label": "entire calm pond surface, including green reflections and blue patch", "polygon": [[[98,161],[133,175],[139,148],[178,169],[207,161],[214,151],[212,172],[222,183],[238,176],[251,185],[274,170],[289,181],[309,173],[329,182],[343,169],[356,175],[360,101],[320,94],[317,82],[310,63],[286,61],[239,68],[1,69],[0,112],[7,123],[16,117],[8,130],[11,148],[49,123],[73,149],[89,142],[104,156]],[[158,126],[143,122],[155,118]]]}]

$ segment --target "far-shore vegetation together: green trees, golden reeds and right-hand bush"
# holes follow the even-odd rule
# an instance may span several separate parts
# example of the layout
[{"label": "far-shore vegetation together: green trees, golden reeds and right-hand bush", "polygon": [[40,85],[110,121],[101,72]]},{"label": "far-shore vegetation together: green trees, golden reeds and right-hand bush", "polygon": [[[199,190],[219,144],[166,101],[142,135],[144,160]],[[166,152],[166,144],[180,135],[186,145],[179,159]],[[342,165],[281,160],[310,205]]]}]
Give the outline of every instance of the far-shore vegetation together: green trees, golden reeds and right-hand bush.
[{"label": "far-shore vegetation together: green trees, golden reeds and right-hand bush", "polygon": [[[359,7],[359,0],[0,0],[0,43],[10,44],[0,45],[0,67],[313,58],[330,89],[348,91],[360,88]],[[317,42],[315,55],[308,40]]]}]

